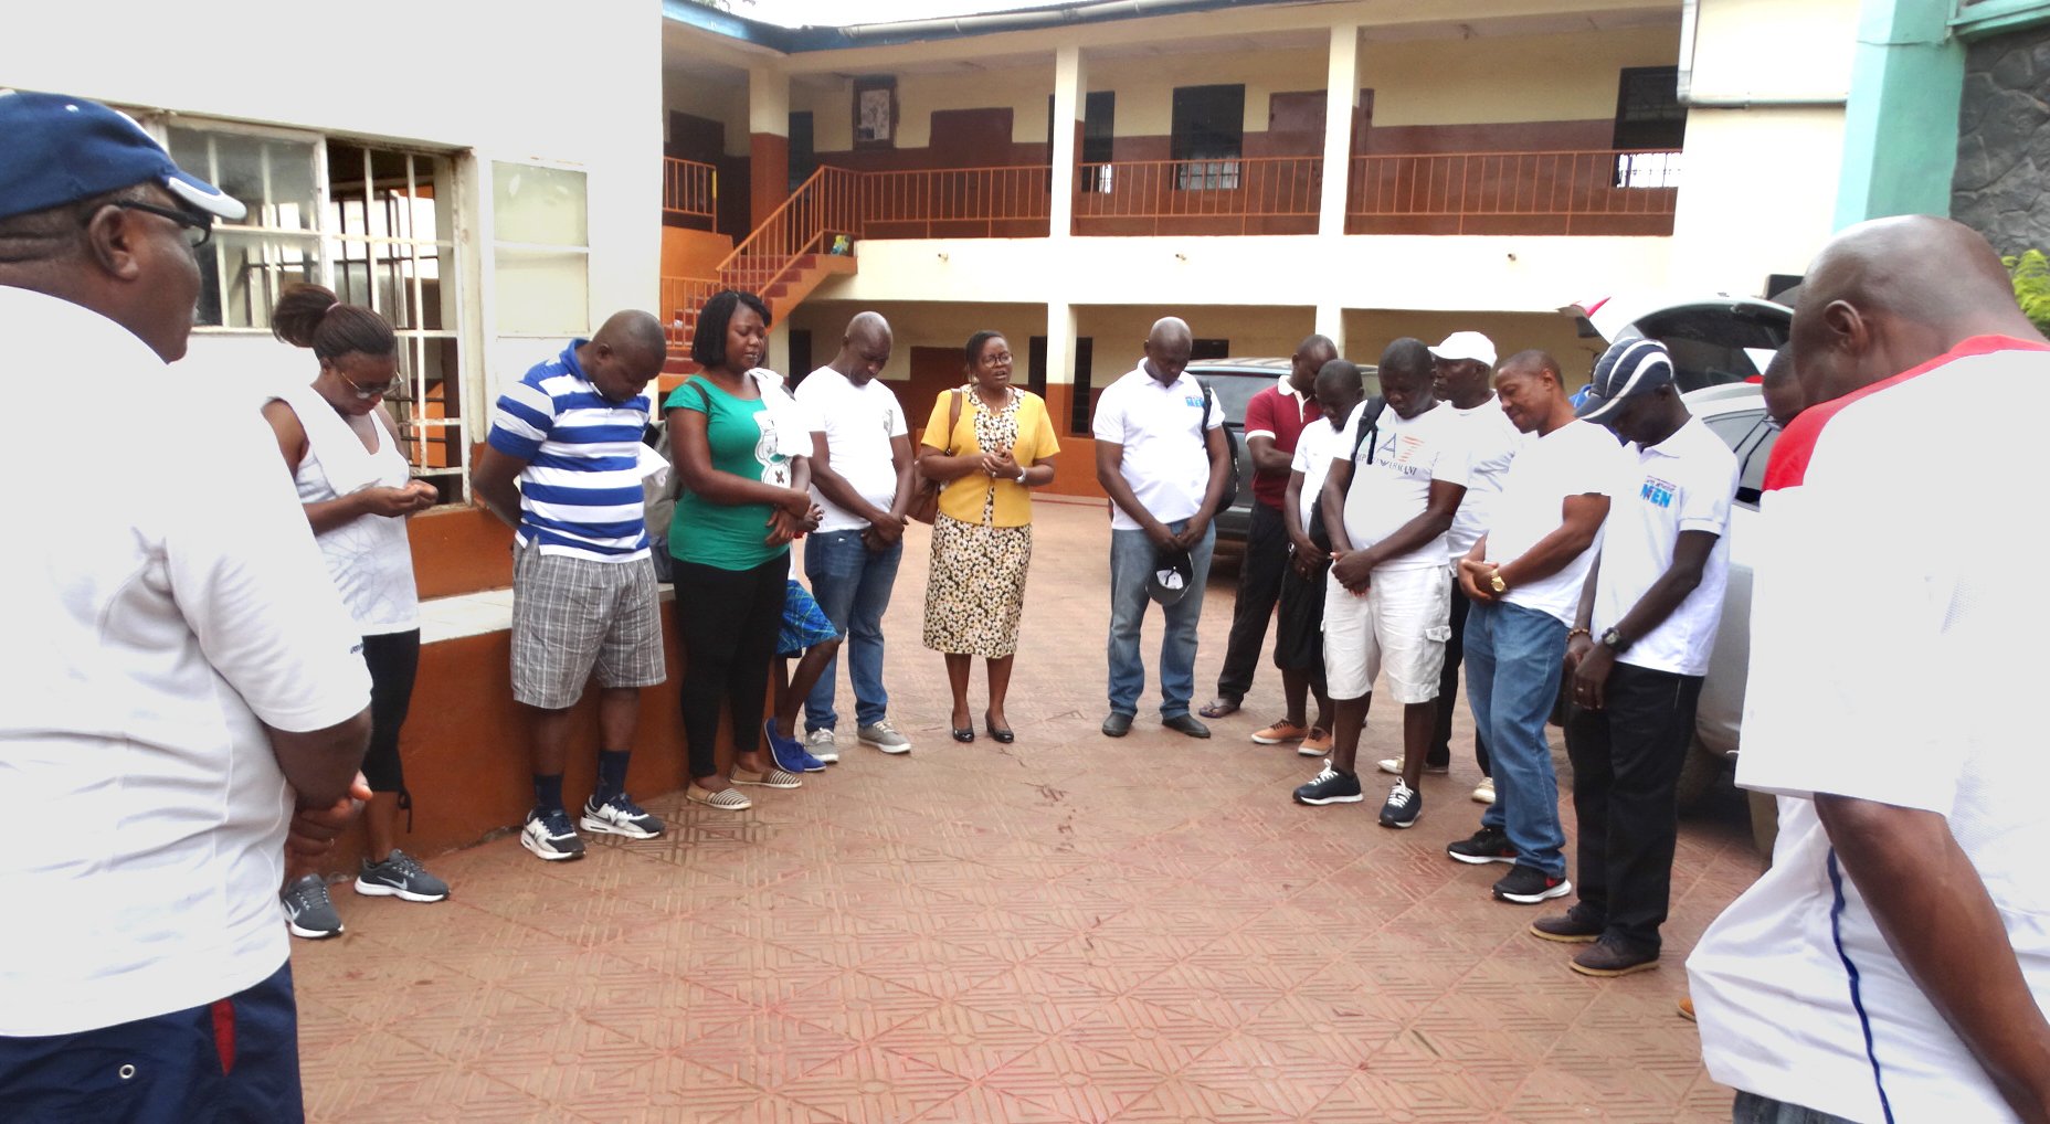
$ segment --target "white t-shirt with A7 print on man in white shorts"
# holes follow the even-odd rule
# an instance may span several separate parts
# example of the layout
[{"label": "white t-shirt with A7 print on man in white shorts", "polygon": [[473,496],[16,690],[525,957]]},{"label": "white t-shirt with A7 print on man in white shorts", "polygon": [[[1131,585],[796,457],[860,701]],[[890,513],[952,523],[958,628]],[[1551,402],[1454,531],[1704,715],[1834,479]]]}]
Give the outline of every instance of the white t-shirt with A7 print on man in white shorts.
[{"label": "white t-shirt with A7 print on man in white shorts", "polygon": [[[1359,441],[1361,410],[1353,410],[1341,451]],[[1353,453],[1353,482],[1345,490],[1345,537],[1353,550],[1365,550],[1402,529],[1425,513],[1431,484],[1466,486],[1470,466],[1460,425],[1445,406],[1435,406],[1402,418],[1394,406],[1384,406],[1373,437]],[[1445,566],[1445,535],[1417,550],[1390,558],[1376,570],[1423,570]]]}]

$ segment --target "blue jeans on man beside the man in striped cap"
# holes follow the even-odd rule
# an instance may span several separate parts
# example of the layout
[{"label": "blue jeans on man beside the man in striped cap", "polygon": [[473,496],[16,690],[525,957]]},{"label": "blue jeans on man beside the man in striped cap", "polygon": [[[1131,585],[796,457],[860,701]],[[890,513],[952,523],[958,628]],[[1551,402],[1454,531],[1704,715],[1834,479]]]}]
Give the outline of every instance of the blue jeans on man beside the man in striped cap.
[{"label": "blue jeans on man beside the man in striped cap", "polygon": [[1566,626],[1523,605],[1480,605],[1466,615],[1466,697],[1488,742],[1494,804],[1480,827],[1509,835],[1517,864],[1566,876],[1566,831],[1558,822],[1558,771],[1544,724],[1558,699]]}]

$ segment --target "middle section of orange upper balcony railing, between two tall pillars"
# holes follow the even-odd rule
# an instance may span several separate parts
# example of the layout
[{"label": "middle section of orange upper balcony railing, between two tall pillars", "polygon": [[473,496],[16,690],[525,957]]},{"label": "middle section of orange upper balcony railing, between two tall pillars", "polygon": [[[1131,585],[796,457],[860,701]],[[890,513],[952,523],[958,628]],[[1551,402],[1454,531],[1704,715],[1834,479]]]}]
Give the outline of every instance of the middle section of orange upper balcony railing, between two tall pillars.
[{"label": "middle section of orange upper balcony railing, between two tall pillars", "polygon": [[1318,156],[1084,164],[1076,234],[1316,234]]}]

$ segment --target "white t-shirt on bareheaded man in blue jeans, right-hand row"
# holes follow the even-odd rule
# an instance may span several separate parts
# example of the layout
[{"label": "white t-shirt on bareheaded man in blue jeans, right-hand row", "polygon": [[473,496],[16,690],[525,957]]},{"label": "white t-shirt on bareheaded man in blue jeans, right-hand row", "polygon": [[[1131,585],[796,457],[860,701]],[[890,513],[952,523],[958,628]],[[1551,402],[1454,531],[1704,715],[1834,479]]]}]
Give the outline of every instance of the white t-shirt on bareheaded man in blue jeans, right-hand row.
[{"label": "white t-shirt on bareheaded man in blue jeans, right-hand row", "polygon": [[[1607,429],[1581,418],[1525,445],[1509,466],[1503,494],[1494,505],[1488,562],[1505,566],[1556,531],[1564,523],[1566,496],[1613,492],[1619,455],[1622,445]],[[1599,533],[1556,574],[1511,585],[1503,601],[1572,624],[1597,550],[1601,550]]]}]

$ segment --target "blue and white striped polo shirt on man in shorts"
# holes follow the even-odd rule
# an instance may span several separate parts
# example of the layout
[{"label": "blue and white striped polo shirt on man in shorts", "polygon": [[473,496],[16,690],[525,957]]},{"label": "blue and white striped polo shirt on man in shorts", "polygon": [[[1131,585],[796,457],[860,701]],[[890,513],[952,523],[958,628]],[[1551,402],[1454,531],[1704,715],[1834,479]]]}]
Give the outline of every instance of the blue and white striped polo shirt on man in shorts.
[{"label": "blue and white striped polo shirt on man in shorts", "polygon": [[527,461],[519,476],[519,539],[541,554],[594,562],[648,558],[640,447],[652,402],[611,402],[562,355],[535,363],[498,396],[490,445]]}]

